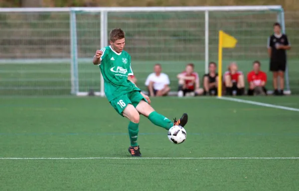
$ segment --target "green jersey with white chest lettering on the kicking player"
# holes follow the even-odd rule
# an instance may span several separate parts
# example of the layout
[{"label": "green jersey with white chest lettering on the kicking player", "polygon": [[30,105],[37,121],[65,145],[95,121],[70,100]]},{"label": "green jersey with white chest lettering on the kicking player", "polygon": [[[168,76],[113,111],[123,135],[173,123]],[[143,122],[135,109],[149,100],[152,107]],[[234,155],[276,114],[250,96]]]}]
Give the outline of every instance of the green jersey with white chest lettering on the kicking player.
[{"label": "green jersey with white chest lettering on the kicking player", "polygon": [[116,97],[128,94],[132,91],[141,91],[128,76],[133,76],[131,68],[131,56],[126,51],[115,52],[111,46],[101,49],[103,54],[100,58],[100,70],[104,78],[105,95],[111,101]]}]

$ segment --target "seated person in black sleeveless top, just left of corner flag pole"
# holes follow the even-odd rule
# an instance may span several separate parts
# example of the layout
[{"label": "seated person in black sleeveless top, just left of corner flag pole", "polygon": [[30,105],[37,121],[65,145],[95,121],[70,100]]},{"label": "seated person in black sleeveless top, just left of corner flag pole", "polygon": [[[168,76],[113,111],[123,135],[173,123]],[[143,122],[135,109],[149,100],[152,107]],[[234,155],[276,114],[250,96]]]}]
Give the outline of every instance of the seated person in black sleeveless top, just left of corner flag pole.
[{"label": "seated person in black sleeveless top, just left of corner flag pole", "polygon": [[209,73],[203,77],[204,95],[217,95],[218,73],[216,73],[216,63],[209,63]]}]

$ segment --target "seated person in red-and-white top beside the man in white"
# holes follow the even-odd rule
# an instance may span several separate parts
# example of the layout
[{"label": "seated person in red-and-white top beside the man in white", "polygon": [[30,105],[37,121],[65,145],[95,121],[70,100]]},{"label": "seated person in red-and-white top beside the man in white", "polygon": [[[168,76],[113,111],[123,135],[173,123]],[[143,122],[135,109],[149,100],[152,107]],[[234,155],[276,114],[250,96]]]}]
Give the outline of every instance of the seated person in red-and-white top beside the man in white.
[{"label": "seated person in red-and-white top beside the man in white", "polygon": [[199,88],[199,77],[194,72],[194,64],[187,64],[185,71],[176,76],[178,78],[178,94],[182,97],[186,95],[202,95],[203,89]]}]

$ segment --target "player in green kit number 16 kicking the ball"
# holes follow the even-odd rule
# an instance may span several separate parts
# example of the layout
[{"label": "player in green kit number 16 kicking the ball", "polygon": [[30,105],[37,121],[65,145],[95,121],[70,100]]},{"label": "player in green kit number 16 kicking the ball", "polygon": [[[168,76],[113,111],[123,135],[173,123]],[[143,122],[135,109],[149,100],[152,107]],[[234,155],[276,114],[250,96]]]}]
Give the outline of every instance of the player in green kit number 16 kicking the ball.
[{"label": "player in green kit number 16 kicking the ball", "polygon": [[140,114],[149,118],[157,126],[166,130],[174,125],[185,126],[188,120],[187,113],[171,122],[167,117],[157,113],[150,106],[149,96],[132,82],[133,71],[131,56],[124,51],[125,32],[115,28],[109,34],[110,46],[97,50],[93,57],[93,64],[98,65],[104,78],[105,94],[115,110],[127,117],[131,146],[129,152],[133,157],[141,157],[140,147],[137,143]]}]

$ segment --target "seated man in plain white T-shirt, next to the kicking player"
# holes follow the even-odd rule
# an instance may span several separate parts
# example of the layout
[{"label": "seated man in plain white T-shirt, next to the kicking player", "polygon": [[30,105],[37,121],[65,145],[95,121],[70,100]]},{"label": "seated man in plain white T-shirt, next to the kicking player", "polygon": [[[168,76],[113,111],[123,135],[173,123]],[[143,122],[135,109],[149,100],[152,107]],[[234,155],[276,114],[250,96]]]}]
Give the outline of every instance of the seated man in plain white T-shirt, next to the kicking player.
[{"label": "seated man in plain white T-shirt, next to the kicking player", "polygon": [[169,78],[162,73],[160,64],[154,65],[154,72],[149,74],[145,84],[148,87],[149,96],[165,96],[170,91]]}]

